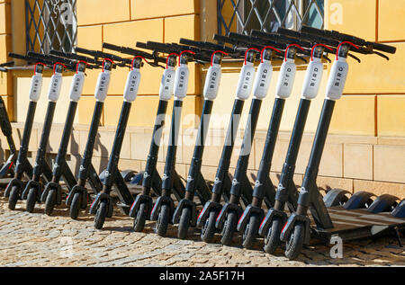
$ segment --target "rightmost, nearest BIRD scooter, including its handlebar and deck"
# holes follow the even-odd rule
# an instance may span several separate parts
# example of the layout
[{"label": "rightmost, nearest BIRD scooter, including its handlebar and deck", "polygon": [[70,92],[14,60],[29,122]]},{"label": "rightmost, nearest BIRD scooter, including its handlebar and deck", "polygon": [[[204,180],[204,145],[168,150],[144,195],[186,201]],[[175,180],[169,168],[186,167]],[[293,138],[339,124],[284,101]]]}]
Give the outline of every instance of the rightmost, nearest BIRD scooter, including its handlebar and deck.
[{"label": "rightmost, nearest BIRD scooter, including its handlebar and deck", "polygon": [[[338,45],[337,59],[330,70],[326,98],[299,193],[297,209],[286,220],[280,236],[280,240],[286,242],[285,255],[289,259],[297,258],[301,253],[302,246],[309,244],[311,230],[315,236],[320,238],[327,239],[338,235],[342,239],[353,239],[375,236],[390,228],[397,228],[398,234],[398,227],[405,226],[405,202],[401,201],[392,210],[396,205],[396,198],[391,195],[380,196],[379,199],[374,200],[368,209],[354,209],[354,204],[358,204],[364,198],[361,193],[359,195],[354,194],[344,206],[334,206],[327,209],[316,185],[320,158],[328,135],[335,102],[343,94],[347,79],[347,54],[350,47],[354,46],[356,47],[355,51],[364,54],[375,53],[377,55],[382,54],[374,51],[374,49],[388,53],[394,53],[396,49],[388,45],[341,34],[338,31],[322,31],[310,27],[302,27],[302,31],[339,40],[340,44]],[[387,58],[386,56],[383,57]],[[317,227],[311,227],[308,209],[311,210],[311,218]]]}]

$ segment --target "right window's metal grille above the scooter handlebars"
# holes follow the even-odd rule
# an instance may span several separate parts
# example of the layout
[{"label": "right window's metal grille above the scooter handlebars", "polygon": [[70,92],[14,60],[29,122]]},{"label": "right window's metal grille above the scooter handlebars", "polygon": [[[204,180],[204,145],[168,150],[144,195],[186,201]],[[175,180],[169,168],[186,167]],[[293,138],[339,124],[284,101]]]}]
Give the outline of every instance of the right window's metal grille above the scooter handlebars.
[{"label": "right window's metal grille above the scooter handlebars", "polygon": [[324,0],[217,0],[218,32],[299,30],[302,24],[323,28]]}]

